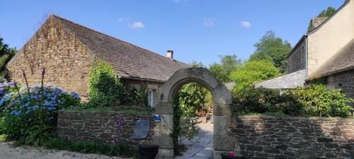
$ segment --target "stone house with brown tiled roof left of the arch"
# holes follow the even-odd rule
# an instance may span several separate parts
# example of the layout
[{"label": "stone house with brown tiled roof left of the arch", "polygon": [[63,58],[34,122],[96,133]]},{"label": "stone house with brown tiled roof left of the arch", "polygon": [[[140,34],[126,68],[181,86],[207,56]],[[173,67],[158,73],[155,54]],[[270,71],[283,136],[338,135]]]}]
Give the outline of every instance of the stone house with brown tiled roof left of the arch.
[{"label": "stone house with brown tiled roof left of the arch", "polygon": [[51,15],[33,37],[8,62],[11,78],[30,85],[40,84],[41,69],[46,69],[45,83],[89,96],[89,72],[93,61],[107,61],[130,88],[146,86],[149,105],[156,105],[156,90],[178,69],[188,67],[173,59],[99,33],[70,20]]}]

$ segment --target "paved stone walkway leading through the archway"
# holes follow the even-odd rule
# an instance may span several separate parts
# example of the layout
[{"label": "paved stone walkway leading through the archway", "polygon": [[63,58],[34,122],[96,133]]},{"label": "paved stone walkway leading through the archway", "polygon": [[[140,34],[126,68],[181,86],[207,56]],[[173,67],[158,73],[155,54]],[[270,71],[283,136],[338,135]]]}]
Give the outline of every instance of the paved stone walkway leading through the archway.
[{"label": "paved stone walkway leading through the archway", "polygon": [[181,156],[176,156],[176,159],[202,159],[212,158],[214,148],[212,143],[213,124],[210,122],[198,124],[200,130],[193,140],[187,139],[182,141],[182,144],[188,148],[188,151]]}]

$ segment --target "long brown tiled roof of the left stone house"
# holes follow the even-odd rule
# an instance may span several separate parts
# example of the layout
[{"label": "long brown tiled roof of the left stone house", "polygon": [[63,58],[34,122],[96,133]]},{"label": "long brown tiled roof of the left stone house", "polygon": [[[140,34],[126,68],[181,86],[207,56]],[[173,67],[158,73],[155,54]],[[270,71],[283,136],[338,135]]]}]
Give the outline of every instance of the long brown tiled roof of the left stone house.
[{"label": "long brown tiled roof of the left stone house", "polygon": [[94,57],[110,63],[122,78],[167,81],[178,69],[189,66],[59,16],[51,17],[60,20],[63,28],[86,45]]}]

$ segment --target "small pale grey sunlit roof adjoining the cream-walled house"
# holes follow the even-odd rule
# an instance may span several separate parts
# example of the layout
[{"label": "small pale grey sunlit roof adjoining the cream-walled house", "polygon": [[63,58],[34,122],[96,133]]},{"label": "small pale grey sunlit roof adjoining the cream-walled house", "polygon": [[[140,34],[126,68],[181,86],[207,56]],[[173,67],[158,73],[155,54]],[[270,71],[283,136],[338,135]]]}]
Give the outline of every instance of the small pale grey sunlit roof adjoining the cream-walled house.
[{"label": "small pale grey sunlit roof adjoining the cream-walled house", "polygon": [[287,88],[297,88],[304,86],[306,80],[306,69],[296,71],[278,78],[270,79],[268,81],[263,81],[256,84],[256,88],[277,88],[277,89],[287,89]]}]

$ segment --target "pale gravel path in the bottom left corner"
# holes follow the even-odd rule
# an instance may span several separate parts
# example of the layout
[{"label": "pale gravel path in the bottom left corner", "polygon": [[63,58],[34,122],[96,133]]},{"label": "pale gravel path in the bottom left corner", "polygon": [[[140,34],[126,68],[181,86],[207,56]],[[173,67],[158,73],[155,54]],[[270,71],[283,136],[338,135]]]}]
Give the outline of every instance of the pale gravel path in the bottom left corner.
[{"label": "pale gravel path in the bottom left corner", "polygon": [[13,147],[10,143],[0,142],[0,159],[121,159],[107,155],[84,154],[58,151],[31,146]]}]

